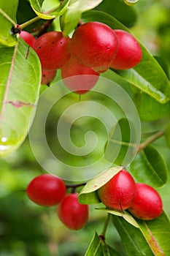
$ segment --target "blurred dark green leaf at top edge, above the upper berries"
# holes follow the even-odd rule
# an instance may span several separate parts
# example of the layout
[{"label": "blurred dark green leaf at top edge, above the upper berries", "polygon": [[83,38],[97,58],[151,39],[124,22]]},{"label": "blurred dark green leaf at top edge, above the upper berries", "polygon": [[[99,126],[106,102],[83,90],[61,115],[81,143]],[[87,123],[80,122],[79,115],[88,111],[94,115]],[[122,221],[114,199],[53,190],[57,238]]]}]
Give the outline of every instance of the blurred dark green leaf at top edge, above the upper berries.
[{"label": "blurred dark green leaf at top edge, above the upper berries", "polygon": [[133,26],[137,18],[134,7],[129,7],[122,0],[104,0],[96,7],[96,10],[107,12],[127,27]]}]

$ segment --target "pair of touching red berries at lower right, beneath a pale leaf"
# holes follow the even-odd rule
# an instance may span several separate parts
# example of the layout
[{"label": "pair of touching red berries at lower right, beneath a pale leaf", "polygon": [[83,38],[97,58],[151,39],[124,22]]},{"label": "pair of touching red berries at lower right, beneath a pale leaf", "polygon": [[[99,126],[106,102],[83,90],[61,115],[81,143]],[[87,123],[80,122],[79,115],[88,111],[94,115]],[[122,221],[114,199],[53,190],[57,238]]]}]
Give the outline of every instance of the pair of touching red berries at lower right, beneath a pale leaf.
[{"label": "pair of touching red berries at lower right, beneath a pale leaf", "polygon": [[163,210],[158,192],[147,184],[135,183],[125,169],[98,189],[98,197],[108,208],[118,211],[128,209],[138,219],[155,219]]}]

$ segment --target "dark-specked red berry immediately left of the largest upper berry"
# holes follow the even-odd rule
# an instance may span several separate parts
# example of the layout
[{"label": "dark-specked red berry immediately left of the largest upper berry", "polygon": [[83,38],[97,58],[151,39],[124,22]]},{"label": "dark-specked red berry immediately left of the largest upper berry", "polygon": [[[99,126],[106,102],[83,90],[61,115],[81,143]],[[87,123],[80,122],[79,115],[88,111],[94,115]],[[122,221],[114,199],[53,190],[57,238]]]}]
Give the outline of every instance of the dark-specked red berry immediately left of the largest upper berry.
[{"label": "dark-specked red berry immediately left of the largest upper berry", "polygon": [[36,39],[34,50],[42,64],[42,69],[59,69],[70,57],[69,37],[60,31],[50,31]]}]

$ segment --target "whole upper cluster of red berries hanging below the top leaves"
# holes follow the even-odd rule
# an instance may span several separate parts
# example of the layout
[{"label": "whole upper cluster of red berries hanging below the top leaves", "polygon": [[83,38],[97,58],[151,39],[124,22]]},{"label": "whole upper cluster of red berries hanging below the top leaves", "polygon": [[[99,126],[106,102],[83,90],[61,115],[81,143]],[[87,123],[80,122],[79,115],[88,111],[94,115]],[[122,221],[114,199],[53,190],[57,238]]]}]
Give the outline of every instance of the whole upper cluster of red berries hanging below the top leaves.
[{"label": "whole upper cluster of red berries hanging below the top leaves", "polygon": [[66,86],[78,94],[89,91],[96,84],[100,73],[109,67],[130,69],[142,59],[139,42],[130,33],[113,30],[100,22],[78,26],[72,38],[64,38],[61,31],[47,32],[38,39],[26,33],[21,31],[20,37],[39,56],[42,83],[50,83],[57,69],[61,69]]}]

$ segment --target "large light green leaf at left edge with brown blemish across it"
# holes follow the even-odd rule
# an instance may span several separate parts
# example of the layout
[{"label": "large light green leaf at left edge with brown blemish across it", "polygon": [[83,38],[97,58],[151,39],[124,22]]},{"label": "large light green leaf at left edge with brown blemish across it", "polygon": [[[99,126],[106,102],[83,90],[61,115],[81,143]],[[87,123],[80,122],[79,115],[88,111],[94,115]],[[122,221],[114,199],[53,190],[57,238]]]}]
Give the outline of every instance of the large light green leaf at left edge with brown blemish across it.
[{"label": "large light green leaf at left edge with brown blemish across it", "polygon": [[19,37],[15,48],[0,48],[0,157],[15,151],[28,134],[41,82],[41,65]]}]

